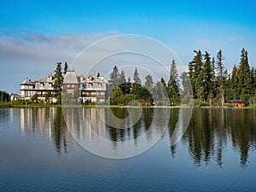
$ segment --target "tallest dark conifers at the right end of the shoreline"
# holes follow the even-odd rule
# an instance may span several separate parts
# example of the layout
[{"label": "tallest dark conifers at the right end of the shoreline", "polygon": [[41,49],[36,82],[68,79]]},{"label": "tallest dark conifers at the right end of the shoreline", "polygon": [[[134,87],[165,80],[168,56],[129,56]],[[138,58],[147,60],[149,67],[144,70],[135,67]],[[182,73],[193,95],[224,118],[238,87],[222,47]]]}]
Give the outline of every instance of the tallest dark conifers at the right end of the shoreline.
[{"label": "tallest dark conifers at the right end of the shoreline", "polygon": [[256,71],[250,67],[247,50],[241,50],[238,66],[232,73],[224,67],[224,56],[220,49],[215,58],[205,51],[194,51],[195,56],[189,62],[188,76],[195,100],[223,105],[230,100],[241,100],[246,105],[254,105],[256,99]]}]

